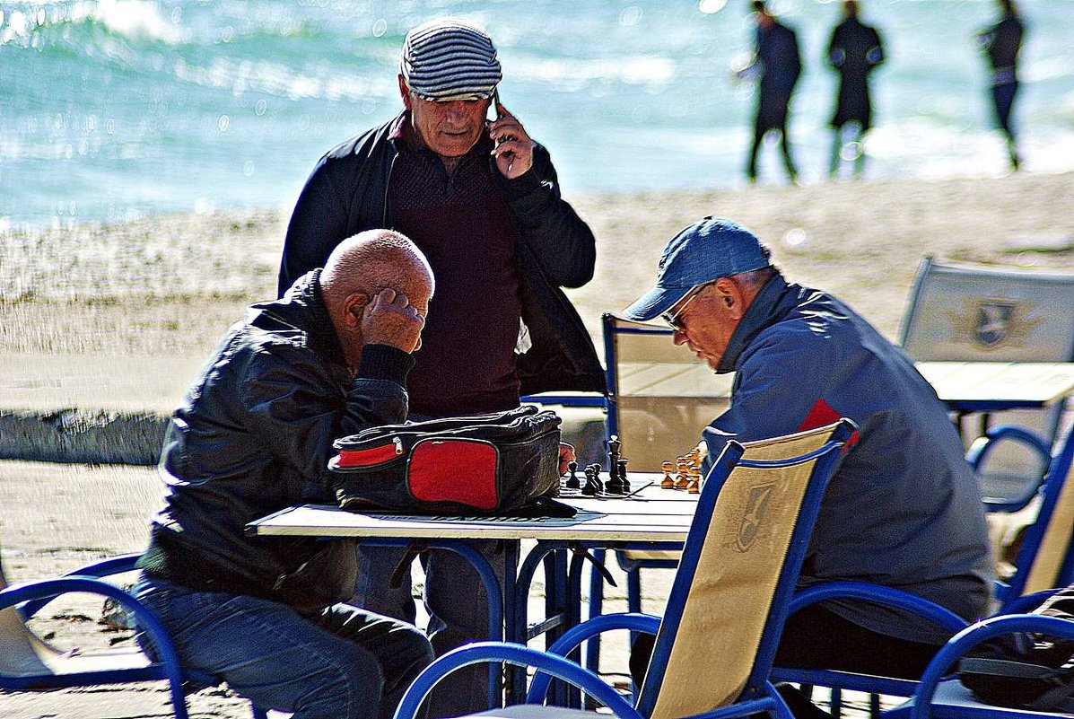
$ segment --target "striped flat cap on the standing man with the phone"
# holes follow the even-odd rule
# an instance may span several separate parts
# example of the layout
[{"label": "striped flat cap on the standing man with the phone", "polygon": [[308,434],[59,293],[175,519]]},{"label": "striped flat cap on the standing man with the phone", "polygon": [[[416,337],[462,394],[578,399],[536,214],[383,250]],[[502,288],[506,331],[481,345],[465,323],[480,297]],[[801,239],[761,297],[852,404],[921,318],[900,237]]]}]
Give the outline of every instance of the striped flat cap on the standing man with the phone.
[{"label": "striped flat cap on the standing man with the phone", "polygon": [[425,100],[483,100],[503,77],[489,33],[444,17],[413,28],[403,41],[400,73]]}]

